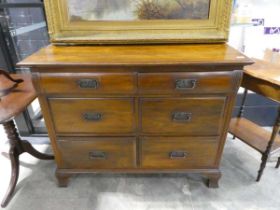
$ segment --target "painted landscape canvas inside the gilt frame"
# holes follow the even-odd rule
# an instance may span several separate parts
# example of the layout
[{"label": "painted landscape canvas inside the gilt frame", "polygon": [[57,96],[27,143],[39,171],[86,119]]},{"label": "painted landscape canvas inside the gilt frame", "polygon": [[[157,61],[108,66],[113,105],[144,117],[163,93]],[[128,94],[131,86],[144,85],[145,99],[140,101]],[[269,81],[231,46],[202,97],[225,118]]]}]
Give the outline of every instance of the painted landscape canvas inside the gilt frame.
[{"label": "painted landscape canvas inside the gilt frame", "polygon": [[72,21],[208,19],[211,0],[67,0]]}]

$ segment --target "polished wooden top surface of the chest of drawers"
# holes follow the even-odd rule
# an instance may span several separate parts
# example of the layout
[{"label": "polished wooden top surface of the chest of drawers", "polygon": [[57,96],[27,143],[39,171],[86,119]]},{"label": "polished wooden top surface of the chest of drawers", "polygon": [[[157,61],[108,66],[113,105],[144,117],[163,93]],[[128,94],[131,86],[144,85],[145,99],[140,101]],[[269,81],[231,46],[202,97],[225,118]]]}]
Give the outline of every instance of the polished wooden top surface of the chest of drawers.
[{"label": "polished wooden top surface of the chest of drawers", "polygon": [[19,66],[248,65],[252,61],[226,44],[54,46]]}]

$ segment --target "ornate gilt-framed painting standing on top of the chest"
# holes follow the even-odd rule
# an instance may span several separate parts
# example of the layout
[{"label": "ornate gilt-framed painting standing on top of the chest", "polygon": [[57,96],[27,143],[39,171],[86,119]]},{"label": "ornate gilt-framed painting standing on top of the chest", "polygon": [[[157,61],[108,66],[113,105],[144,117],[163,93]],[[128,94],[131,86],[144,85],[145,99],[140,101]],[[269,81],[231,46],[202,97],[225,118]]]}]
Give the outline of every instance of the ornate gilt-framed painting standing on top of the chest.
[{"label": "ornate gilt-framed painting standing on top of the chest", "polygon": [[232,0],[45,0],[54,44],[217,43]]}]

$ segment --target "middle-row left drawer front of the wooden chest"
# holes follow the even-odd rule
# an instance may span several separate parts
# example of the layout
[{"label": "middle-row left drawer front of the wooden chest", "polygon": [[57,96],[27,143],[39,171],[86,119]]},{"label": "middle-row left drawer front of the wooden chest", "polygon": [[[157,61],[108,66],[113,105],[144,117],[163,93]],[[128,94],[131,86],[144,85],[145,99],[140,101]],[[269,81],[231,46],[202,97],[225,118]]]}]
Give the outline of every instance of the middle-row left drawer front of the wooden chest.
[{"label": "middle-row left drawer front of the wooden chest", "polygon": [[135,130],[133,99],[49,99],[55,130],[118,134]]}]

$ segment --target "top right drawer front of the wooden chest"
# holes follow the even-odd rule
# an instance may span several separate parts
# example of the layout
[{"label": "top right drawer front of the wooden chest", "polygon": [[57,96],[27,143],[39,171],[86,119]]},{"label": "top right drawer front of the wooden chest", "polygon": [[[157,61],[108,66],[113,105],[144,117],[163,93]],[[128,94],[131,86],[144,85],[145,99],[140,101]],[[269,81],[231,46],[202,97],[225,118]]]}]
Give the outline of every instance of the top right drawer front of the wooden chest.
[{"label": "top right drawer front of the wooden chest", "polygon": [[140,93],[227,93],[233,90],[232,72],[143,73],[139,74]]}]

